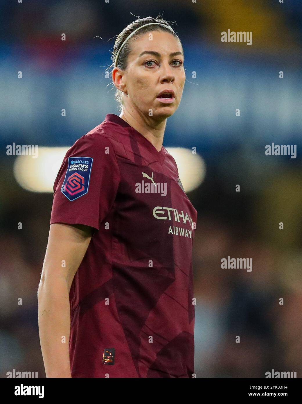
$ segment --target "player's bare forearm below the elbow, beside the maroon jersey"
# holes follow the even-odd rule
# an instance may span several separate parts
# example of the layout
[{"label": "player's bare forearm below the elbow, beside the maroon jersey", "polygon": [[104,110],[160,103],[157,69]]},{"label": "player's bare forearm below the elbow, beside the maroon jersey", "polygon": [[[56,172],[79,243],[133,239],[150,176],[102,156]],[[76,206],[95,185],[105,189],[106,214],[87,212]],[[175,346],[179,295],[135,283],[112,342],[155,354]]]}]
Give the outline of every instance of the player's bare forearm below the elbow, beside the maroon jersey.
[{"label": "player's bare forearm below the elbow, beside the maroon jersey", "polygon": [[38,323],[46,377],[71,377],[70,306],[65,279],[40,282]]}]

